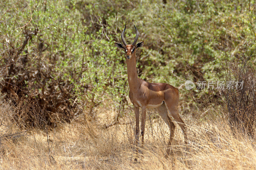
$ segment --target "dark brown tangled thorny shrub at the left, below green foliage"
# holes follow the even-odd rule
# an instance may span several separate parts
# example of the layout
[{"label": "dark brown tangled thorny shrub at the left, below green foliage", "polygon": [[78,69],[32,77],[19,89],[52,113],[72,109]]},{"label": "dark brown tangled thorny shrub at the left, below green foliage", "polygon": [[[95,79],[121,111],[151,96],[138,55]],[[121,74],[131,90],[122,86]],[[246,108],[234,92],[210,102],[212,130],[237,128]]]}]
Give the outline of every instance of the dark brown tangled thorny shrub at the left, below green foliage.
[{"label": "dark brown tangled thorny shrub at the left, below green foliage", "polygon": [[[74,84],[56,72],[59,53],[42,53],[48,48],[42,39],[34,40],[38,29],[23,29],[20,47],[8,41],[1,59],[0,90],[15,107],[13,118],[21,126],[54,126],[55,121],[69,122],[79,111],[74,96]],[[36,41],[34,53],[25,46]]]}]

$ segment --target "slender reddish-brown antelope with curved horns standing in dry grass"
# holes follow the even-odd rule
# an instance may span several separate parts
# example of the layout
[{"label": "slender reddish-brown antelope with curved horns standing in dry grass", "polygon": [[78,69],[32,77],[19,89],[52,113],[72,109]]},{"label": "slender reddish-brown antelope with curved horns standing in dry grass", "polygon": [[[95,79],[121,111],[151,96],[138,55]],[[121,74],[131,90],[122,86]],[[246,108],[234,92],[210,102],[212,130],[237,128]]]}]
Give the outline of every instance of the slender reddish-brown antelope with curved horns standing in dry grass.
[{"label": "slender reddish-brown antelope with curved horns standing in dry grass", "polygon": [[[144,45],[144,41],[137,43],[139,38],[139,31],[134,25],[136,36],[132,44],[127,44],[124,39],[126,25],[121,33],[122,43],[115,42],[117,48],[123,48],[126,53],[126,63],[127,63],[127,75],[128,83],[130,87],[129,98],[134,106],[135,113],[135,146],[136,146],[136,158],[138,158],[138,143],[139,143],[139,118],[140,110],[142,110],[141,115],[141,147],[144,147],[144,131],[145,131],[145,118],[146,109],[155,108],[158,114],[161,116],[163,121],[168,125],[170,129],[170,138],[167,146],[167,153],[164,155],[165,158],[168,157],[170,153],[170,146],[172,144],[172,138],[174,134],[175,124],[172,122],[168,115],[168,112],[172,115],[174,120],[178,123],[184,134],[185,144],[187,143],[187,130],[185,123],[181,119],[178,113],[178,103],[179,103],[179,90],[172,85],[166,83],[148,83],[140,78],[136,71],[136,49]],[[137,44],[136,44],[137,43]]]}]

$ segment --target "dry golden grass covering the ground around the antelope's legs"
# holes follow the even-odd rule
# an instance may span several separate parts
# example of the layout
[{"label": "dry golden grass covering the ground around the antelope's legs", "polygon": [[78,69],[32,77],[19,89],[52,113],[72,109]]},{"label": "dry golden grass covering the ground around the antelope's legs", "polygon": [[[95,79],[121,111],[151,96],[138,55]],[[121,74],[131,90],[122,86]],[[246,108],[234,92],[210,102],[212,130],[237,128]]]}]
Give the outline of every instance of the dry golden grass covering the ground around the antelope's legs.
[{"label": "dry golden grass covering the ground around the antelope's legs", "polygon": [[[216,112],[216,111],[215,111]],[[255,140],[232,132],[225,120],[188,122],[189,152],[175,129],[173,156],[164,159],[169,131],[149,111],[144,158],[134,164],[134,115],[126,114],[107,129],[79,118],[55,129],[19,129],[12,107],[1,103],[0,166],[2,169],[254,169]],[[210,114],[210,113],[209,113]],[[212,113],[213,114],[213,113]],[[216,113],[215,113],[216,114]],[[220,116],[217,116],[220,117]]]}]

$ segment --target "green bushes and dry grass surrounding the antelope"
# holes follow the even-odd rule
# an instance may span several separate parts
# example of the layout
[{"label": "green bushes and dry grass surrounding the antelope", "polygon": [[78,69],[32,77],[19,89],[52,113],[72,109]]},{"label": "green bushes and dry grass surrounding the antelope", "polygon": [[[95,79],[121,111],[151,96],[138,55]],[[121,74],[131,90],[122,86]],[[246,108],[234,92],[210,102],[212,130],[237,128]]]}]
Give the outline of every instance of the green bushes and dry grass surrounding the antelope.
[{"label": "green bushes and dry grass surrounding the antelope", "polygon": [[[0,166],[255,167],[255,17],[254,0],[1,1]],[[163,159],[169,131],[149,110],[147,156],[133,164],[126,58],[114,45],[125,24],[126,41],[133,24],[145,41],[138,76],[180,87],[189,152],[176,128]],[[188,91],[186,80],[244,88]]]}]

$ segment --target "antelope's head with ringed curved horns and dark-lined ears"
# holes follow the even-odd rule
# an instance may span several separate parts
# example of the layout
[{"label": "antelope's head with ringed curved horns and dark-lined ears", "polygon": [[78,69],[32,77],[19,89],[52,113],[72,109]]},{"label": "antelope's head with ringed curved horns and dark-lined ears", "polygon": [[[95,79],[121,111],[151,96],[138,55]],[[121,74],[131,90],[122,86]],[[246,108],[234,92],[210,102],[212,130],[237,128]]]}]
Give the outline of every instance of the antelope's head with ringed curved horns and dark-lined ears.
[{"label": "antelope's head with ringed curved horns and dark-lined ears", "polygon": [[144,45],[144,41],[140,41],[139,43],[137,43],[138,38],[139,38],[139,31],[137,30],[136,26],[134,25],[134,28],[136,30],[136,37],[135,37],[134,41],[132,42],[132,44],[127,44],[126,41],[124,40],[125,28],[126,28],[126,24],[124,26],[124,31],[121,33],[121,39],[123,41],[123,44],[119,43],[119,42],[115,42],[115,45],[117,48],[123,48],[126,53],[126,58],[130,59],[132,54],[135,54],[136,49],[140,48]]}]

